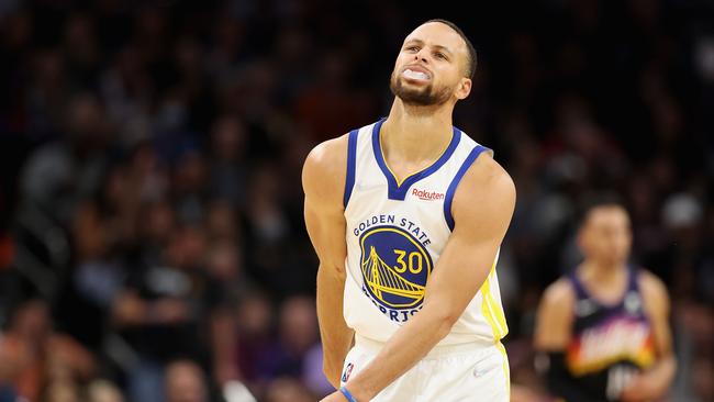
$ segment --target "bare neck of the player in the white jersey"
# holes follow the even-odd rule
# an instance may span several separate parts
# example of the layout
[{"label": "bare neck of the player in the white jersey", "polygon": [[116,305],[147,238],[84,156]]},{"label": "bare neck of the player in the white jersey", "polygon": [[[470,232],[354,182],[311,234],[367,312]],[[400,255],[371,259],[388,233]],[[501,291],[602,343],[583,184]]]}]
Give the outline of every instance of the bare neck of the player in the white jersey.
[{"label": "bare neck of the player in the white jersey", "polygon": [[386,154],[399,153],[411,160],[438,157],[451,139],[451,112],[447,104],[438,107],[405,105],[394,100],[382,124],[381,142]]}]

